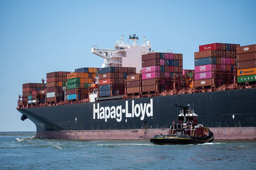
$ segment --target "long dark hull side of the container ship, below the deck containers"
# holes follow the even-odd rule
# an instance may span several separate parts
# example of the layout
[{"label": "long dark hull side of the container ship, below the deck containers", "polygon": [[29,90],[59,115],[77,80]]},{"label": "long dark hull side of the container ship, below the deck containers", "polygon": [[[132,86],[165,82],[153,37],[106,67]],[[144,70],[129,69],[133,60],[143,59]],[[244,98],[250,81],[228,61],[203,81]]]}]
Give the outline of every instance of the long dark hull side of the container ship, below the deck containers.
[{"label": "long dark hull side of the container ship, below the deck containers", "polygon": [[[153,134],[156,134],[153,133],[156,129],[170,128],[173,120],[177,122],[179,109],[174,106],[174,103],[180,103],[181,105],[183,103],[193,103],[195,113],[200,115],[198,120],[206,127],[216,127],[216,129],[253,127],[255,129],[255,96],[256,89],[252,88],[108,100],[18,109],[18,111],[35,123],[37,127],[36,137],[72,138],[68,137],[68,134],[74,136],[87,132],[93,134],[103,132],[102,136],[99,137],[100,139],[119,139],[119,137],[123,139],[121,138],[122,133],[127,133],[123,135],[125,139],[127,136],[128,139],[143,139],[152,138]],[[222,131],[225,131],[225,129]],[[132,135],[136,132],[140,134],[133,138]],[[221,132],[218,133],[221,135]],[[152,136],[149,136],[149,134]],[[108,137],[103,137],[104,135]],[[255,138],[255,132],[250,135]],[[94,139],[86,135],[83,135],[82,138]]]}]

